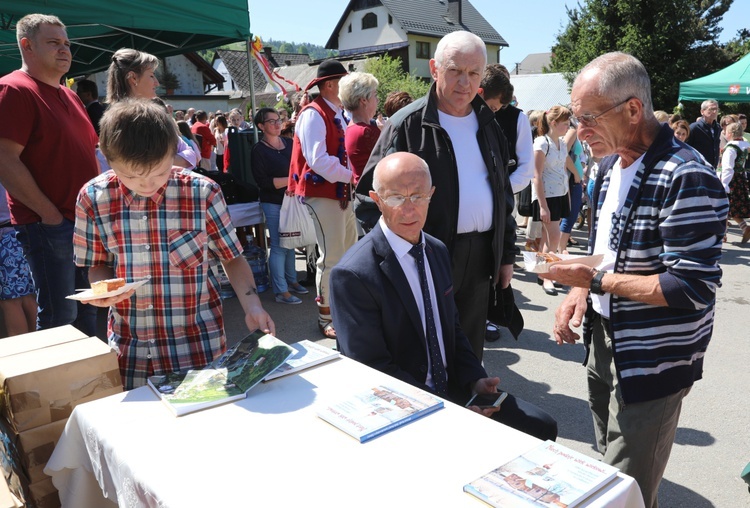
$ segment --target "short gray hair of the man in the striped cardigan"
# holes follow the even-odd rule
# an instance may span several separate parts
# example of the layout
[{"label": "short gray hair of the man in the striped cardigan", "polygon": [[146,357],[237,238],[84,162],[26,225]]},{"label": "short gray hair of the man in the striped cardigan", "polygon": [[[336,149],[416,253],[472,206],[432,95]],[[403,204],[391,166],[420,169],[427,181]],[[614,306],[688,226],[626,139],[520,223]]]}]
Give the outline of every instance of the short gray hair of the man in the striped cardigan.
[{"label": "short gray hair of the man in the striped cardigan", "polygon": [[[624,102],[628,97],[635,97],[643,104],[646,113],[653,114],[651,102],[651,79],[640,60],[633,55],[614,51],[605,53],[586,65],[576,78],[590,71],[598,71],[599,82],[597,95],[609,97],[615,103]],[[575,86],[576,83],[573,83]],[[618,106],[618,109],[622,106]]]}]

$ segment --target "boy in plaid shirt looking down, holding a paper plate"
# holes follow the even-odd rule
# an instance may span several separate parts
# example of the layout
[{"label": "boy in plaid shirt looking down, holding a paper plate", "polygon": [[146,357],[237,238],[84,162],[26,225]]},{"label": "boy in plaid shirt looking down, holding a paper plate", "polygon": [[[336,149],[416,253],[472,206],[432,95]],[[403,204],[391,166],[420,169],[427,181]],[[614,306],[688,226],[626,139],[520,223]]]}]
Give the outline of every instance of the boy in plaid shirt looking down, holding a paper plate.
[{"label": "boy in plaid shirt looking down, holding a paper plate", "polygon": [[213,263],[224,266],[247,327],[275,333],[219,186],[172,166],[177,136],[157,104],[112,104],[99,138],[112,170],[84,185],[76,204],[75,260],[90,267],[90,281],[149,279],[89,302],[110,307],[109,341],[126,389],[153,374],[203,367],[226,350]]}]

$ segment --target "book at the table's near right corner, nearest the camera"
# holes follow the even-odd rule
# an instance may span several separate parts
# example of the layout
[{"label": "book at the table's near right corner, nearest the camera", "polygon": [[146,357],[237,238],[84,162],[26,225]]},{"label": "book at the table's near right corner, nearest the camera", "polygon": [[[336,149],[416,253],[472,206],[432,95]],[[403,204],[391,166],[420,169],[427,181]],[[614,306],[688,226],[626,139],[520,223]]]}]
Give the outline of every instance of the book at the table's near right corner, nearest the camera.
[{"label": "book at the table's near right corner, nearest the camera", "polygon": [[619,470],[552,441],[464,485],[495,507],[573,508],[617,476]]}]

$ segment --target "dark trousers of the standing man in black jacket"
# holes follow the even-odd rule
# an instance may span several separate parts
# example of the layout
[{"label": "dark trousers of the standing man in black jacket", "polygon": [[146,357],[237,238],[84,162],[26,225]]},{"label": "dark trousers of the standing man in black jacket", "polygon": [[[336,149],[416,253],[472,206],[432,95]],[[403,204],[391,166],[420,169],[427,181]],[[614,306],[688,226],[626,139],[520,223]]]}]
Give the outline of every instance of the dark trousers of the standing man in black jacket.
[{"label": "dark trousers of the standing man in black jacket", "polygon": [[461,329],[482,361],[487,322],[487,300],[494,258],[493,231],[458,235],[453,244],[453,294]]}]

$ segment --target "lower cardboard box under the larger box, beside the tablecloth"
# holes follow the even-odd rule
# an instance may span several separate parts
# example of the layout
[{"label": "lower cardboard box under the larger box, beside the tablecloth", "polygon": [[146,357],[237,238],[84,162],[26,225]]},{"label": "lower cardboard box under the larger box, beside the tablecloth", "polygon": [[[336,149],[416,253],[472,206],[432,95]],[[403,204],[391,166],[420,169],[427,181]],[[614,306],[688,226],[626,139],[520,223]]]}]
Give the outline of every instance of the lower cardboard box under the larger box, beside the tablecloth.
[{"label": "lower cardboard box under the larger box, beside the tablecloth", "polygon": [[52,456],[55,445],[60,440],[67,420],[59,420],[41,427],[16,433],[0,420],[0,432],[4,453],[7,460],[20,469],[29,483],[35,483],[49,478],[44,474],[44,467]]}]

